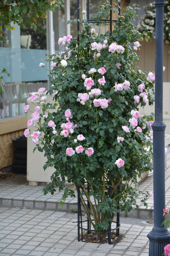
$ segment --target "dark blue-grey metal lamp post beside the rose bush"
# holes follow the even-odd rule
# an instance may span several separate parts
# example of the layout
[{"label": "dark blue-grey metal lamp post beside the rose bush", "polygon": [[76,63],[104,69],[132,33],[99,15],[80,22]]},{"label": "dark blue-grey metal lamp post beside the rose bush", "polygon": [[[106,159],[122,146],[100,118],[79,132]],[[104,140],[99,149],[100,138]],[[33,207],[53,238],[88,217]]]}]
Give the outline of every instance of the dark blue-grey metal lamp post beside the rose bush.
[{"label": "dark blue-grey metal lamp post beside the rose bush", "polygon": [[165,208],[165,128],[163,122],[163,0],[155,0],[155,122],[153,129],[153,190],[154,190],[154,227],[148,234],[149,256],[161,256],[164,247],[170,243],[170,232],[162,225]]}]

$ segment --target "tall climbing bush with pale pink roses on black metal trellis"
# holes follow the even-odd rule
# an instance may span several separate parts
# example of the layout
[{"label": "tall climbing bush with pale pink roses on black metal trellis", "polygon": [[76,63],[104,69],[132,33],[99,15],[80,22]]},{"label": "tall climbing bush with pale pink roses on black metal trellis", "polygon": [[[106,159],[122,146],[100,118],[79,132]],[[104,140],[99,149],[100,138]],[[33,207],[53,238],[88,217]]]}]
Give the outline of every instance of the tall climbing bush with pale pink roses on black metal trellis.
[{"label": "tall climbing bush with pale pink roses on black metal trellis", "polygon": [[[95,19],[100,26],[109,10],[107,2],[98,10]],[[144,35],[130,22],[135,14],[133,8],[126,8],[113,32],[104,35],[96,34],[81,17],[79,41],[71,35],[60,38],[58,44],[67,45],[66,52],[50,56],[55,65],[46,94],[53,95],[53,104],[46,102],[44,88],[38,90],[39,98],[32,94],[28,99],[36,107],[25,135],[32,137],[34,150],[45,151],[44,170],[56,169],[44,194],[53,195],[55,187],[63,189],[66,181],[81,186],[81,203],[99,240],[105,236],[100,231],[109,227],[117,211],[138,208],[137,176],[152,170],[153,138],[148,122],[153,122],[153,116],[141,117],[138,106],[153,104],[154,74],[134,70],[139,57],[131,43],[141,41]],[[32,133],[30,127],[35,125],[38,130]],[[148,194],[142,194],[146,206]],[[60,204],[68,196],[75,196],[72,189],[65,189]]]}]

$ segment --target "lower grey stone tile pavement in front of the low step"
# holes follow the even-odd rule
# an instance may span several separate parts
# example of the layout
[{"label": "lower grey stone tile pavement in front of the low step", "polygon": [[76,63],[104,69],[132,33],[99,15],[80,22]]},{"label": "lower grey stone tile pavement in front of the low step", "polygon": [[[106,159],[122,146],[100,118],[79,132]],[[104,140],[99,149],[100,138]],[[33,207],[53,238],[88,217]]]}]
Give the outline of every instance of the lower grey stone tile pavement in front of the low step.
[{"label": "lower grey stone tile pavement in front of the low step", "polygon": [[18,207],[0,207],[0,213],[1,256],[148,256],[152,224],[141,219],[121,218],[125,235],[113,246],[77,242],[75,213]]}]

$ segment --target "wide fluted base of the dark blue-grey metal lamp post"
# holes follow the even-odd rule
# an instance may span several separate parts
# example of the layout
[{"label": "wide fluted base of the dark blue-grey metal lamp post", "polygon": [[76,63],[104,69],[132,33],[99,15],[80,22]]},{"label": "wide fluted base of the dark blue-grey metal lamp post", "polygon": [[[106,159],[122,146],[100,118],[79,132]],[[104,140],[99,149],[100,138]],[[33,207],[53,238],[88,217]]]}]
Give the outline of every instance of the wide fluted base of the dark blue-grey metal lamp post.
[{"label": "wide fluted base of the dark blue-grey metal lamp post", "polygon": [[147,237],[149,238],[149,256],[161,256],[164,253],[164,247],[170,243],[170,232],[166,228],[153,227]]}]

